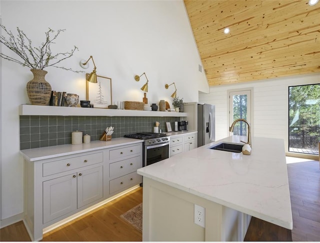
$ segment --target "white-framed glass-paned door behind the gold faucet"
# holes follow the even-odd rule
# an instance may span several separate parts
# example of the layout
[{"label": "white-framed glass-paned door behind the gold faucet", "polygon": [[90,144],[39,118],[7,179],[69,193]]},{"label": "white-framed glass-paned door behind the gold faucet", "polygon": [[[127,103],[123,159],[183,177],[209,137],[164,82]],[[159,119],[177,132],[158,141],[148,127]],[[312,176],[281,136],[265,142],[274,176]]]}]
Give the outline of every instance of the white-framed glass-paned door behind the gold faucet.
[{"label": "white-framed glass-paned door behind the gold faucet", "polygon": [[[229,92],[229,126],[236,119],[251,123],[251,90]],[[247,135],[247,125],[243,121],[234,124],[233,135]]]}]

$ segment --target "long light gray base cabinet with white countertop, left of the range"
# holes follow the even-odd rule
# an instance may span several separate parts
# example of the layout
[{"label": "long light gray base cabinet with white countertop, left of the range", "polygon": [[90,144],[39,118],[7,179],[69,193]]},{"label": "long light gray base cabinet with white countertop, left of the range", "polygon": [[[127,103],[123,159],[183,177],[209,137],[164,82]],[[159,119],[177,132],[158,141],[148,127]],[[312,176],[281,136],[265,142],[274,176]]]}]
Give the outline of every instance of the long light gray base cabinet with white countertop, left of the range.
[{"label": "long light gray base cabinet with white countertop, left of the range", "polygon": [[24,224],[31,240],[41,240],[43,228],[142,182],[136,173],[142,167],[142,141],[135,139],[64,144],[21,153]]}]

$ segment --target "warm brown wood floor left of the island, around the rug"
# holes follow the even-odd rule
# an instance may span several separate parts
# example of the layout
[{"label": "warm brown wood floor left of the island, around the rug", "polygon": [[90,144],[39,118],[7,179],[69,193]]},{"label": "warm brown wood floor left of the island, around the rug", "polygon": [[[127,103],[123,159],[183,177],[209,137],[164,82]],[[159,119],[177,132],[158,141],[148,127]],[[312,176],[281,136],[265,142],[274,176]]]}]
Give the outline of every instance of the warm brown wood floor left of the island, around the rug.
[{"label": "warm brown wood floor left of the island, around the rug", "polygon": [[[43,235],[42,241],[142,241],[120,215],[142,202],[142,187]],[[0,229],[0,241],[30,241],[22,221]]]}]

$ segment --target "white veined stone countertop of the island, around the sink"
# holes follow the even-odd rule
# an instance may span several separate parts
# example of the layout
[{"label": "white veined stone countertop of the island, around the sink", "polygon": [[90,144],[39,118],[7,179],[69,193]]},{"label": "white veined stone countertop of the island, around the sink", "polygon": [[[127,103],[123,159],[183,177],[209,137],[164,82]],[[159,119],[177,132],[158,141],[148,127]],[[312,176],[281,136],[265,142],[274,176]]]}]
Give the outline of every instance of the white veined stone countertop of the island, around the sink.
[{"label": "white veined stone countertop of the island, around the sink", "polygon": [[[230,136],[142,167],[137,173],[292,229],[284,141],[252,137],[251,155],[208,149]],[[242,143],[243,144],[243,143]]]}]

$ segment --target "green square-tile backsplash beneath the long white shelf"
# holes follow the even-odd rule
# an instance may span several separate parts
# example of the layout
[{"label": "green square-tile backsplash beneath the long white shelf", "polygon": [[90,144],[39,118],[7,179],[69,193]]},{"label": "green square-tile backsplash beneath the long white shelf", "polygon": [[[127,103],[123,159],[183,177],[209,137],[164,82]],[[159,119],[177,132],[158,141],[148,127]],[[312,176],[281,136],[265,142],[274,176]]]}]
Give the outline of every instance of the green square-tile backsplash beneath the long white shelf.
[{"label": "green square-tile backsplash beneath the long white shelf", "polygon": [[20,149],[71,144],[71,132],[89,134],[98,140],[107,126],[114,126],[112,137],[135,132],[152,132],[155,121],[165,132],[165,122],[171,127],[179,117],[162,116],[56,116],[20,115]]}]

